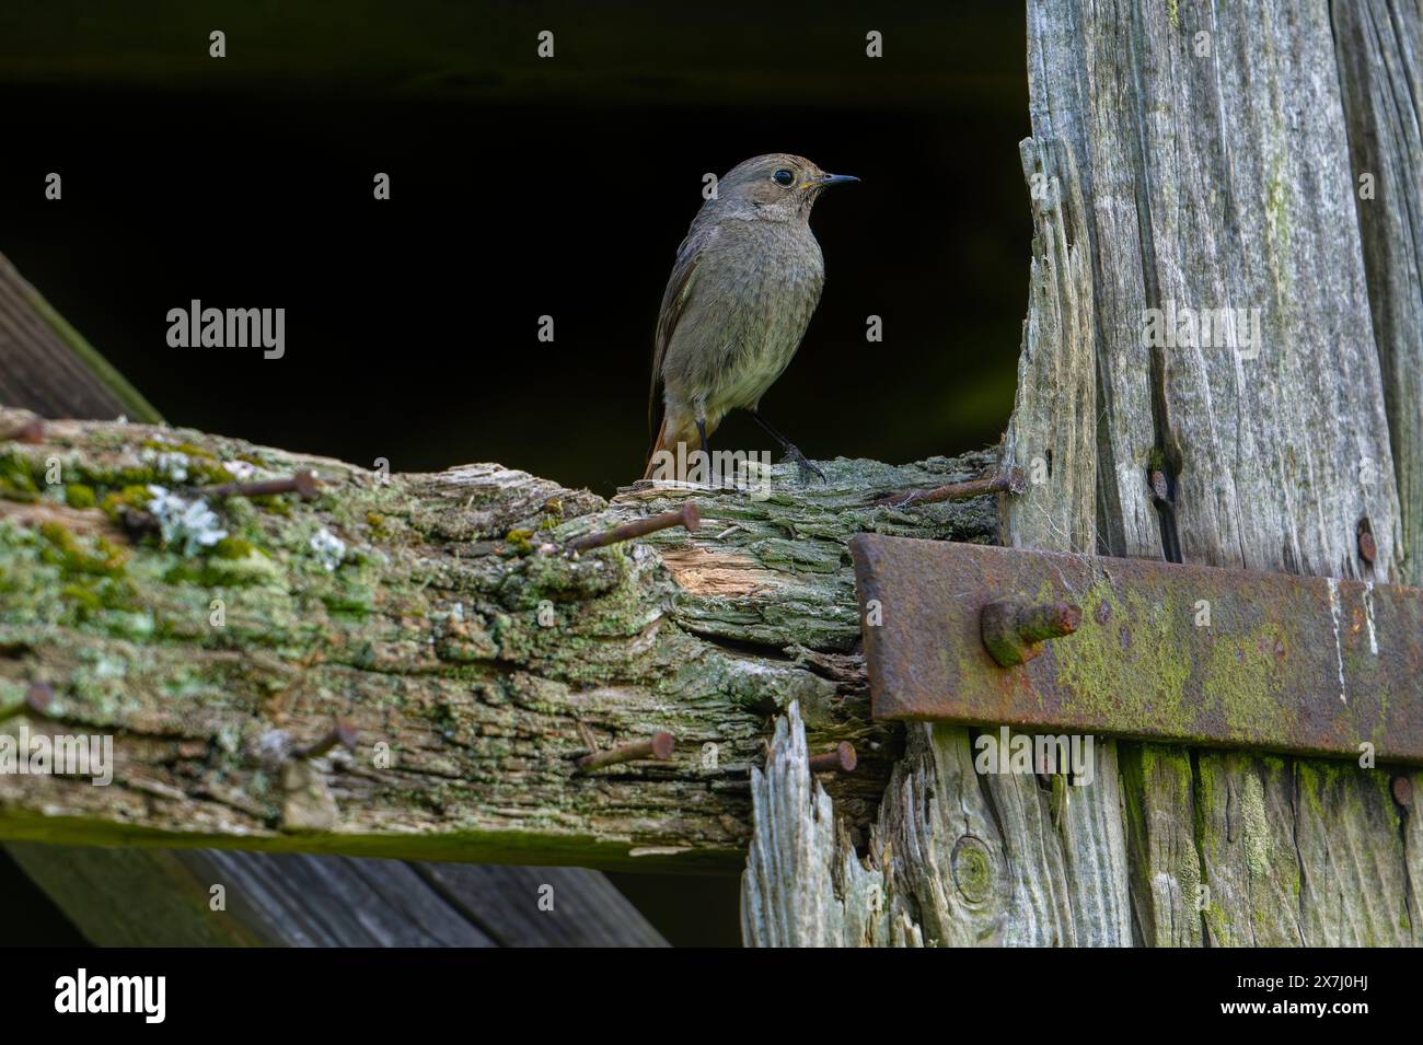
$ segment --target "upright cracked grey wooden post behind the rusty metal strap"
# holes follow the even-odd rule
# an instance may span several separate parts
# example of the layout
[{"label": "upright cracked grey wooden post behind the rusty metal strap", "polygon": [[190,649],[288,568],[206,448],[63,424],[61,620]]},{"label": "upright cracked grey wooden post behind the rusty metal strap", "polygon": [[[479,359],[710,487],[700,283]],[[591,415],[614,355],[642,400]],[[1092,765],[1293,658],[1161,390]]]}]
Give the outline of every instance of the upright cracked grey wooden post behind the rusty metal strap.
[{"label": "upright cracked grey wooden post behind the rusty metal strap", "polygon": [[[1040,466],[1005,506],[1010,543],[1417,576],[1423,155],[1397,100],[1423,48],[1416,6],[1362,7],[1332,23],[1322,0],[1029,1],[1036,236],[1005,446]],[[1360,164],[1377,165],[1372,209]],[[1202,313],[1231,326],[1183,334]],[[1097,752],[1084,796],[979,776],[966,731],[911,727],[861,864],[845,837],[783,833],[832,819],[794,772],[788,719],[753,778],[747,943],[1423,941],[1423,835],[1387,771]],[[797,924],[825,910],[838,933]]]}]

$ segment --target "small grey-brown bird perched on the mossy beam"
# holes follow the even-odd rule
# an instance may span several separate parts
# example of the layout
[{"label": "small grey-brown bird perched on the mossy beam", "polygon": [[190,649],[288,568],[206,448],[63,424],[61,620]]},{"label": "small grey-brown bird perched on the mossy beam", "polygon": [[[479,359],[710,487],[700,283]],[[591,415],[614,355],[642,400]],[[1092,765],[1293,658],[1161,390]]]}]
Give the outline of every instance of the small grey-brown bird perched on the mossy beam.
[{"label": "small grey-brown bird perched on the mossy beam", "polygon": [[706,454],[721,418],[744,407],[803,475],[824,481],[760,404],[795,355],[825,282],[810,209],[827,186],[855,181],[774,152],[739,164],[702,205],[657,316],[647,404],[657,435],[643,478],[656,471],[659,451],[676,455],[684,444]]}]

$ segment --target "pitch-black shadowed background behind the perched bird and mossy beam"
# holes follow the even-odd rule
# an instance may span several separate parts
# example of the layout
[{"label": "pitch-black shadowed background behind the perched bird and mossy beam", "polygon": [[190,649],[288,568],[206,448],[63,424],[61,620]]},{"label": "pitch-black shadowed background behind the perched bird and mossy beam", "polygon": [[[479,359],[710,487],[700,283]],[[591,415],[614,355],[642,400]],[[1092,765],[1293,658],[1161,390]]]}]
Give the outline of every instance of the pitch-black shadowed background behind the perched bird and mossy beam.
[{"label": "pitch-black shadowed background behind the perched bird and mossy beam", "polygon": [[[784,151],[862,183],[815,208],[825,293],[767,417],[811,458],[998,439],[1030,239],[1020,6],[194,7],[0,11],[0,252],[171,422],[609,495],[642,473],[703,173]],[[285,307],[286,357],[169,348],[195,297]],[[734,415],[713,445],[764,442]],[[733,880],[706,903],[657,881],[626,889],[675,940],[734,940]]]}]

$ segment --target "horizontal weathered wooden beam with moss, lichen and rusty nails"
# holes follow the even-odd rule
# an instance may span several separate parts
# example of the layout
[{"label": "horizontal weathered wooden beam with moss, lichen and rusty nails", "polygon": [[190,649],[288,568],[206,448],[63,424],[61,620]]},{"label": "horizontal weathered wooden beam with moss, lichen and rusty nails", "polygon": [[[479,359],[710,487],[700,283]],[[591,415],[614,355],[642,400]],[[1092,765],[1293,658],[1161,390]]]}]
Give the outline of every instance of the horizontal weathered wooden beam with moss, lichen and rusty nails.
[{"label": "horizontal weathered wooden beam with moss, lichen and rusty nails", "polygon": [[[55,461],[63,482],[47,485]],[[572,536],[687,493],[609,505],[492,465],[387,482],[145,425],[46,422],[0,462],[4,728],[115,736],[111,788],[0,776],[10,839],[727,866],[748,837],[766,715],[791,700],[817,744],[861,752],[834,788],[852,818],[868,822],[888,775],[896,744],[867,721],[848,537],[996,536],[985,499],[877,503],[976,478],[986,454],[831,462],[808,488],[777,469],[767,499],[696,495],[692,537],[578,557],[561,552]],[[309,502],[196,498],[226,530],[211,547],[171,519],[165,545],[144,536],[165,515],[148,486],[191,499],[228,465],[314,469],[323,485]],[[300,758],[337,718],[356,751]],[[673,762],[573,772],[591,746],[659,729],[677,738]]]}]

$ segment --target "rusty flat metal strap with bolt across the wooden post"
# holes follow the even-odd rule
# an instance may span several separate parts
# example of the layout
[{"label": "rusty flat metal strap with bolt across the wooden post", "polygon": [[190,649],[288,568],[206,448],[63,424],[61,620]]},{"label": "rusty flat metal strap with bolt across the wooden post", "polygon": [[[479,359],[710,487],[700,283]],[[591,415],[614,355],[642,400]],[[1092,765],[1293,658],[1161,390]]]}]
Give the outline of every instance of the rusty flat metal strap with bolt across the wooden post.
[{"label": "rusty flat metal strap with bolt across the wooden post", "polygon": [[869,533],[850,547],[875,718],[1350,758],[1372,744],[1423,763],[1419,589]]}]

